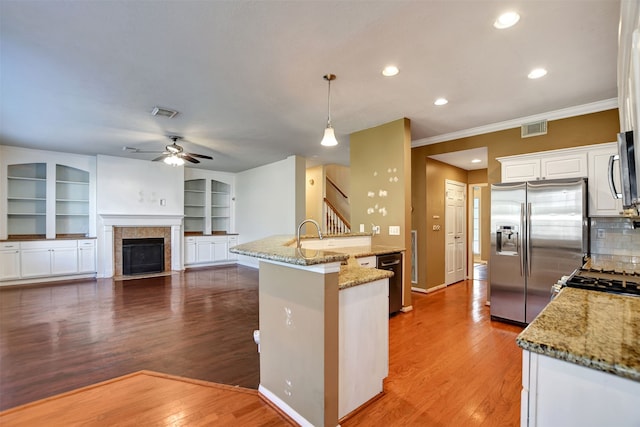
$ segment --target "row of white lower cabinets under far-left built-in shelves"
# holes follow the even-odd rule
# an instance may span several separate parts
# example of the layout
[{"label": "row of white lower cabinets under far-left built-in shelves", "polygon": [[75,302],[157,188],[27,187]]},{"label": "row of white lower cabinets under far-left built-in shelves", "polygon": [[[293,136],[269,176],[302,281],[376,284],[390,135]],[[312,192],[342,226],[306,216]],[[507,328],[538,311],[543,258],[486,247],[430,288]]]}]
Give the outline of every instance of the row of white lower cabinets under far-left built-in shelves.
[{"label": "row of white lower cabinets under far-left built-in shelves", "polygon": [[30,240],[0,243],[0,284],[59,280],[95,274],[95,240]]}]

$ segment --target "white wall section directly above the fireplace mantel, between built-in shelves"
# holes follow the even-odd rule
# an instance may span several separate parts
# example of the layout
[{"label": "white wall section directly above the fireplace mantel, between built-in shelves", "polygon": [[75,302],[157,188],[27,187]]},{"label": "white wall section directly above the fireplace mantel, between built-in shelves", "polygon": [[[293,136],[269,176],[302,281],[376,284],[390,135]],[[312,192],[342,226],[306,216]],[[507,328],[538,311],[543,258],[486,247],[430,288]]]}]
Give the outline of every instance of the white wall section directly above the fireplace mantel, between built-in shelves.
[{"label": "white wall section directly above the fireplace mantel, between built-in shelves", "polygon": [[98,215],[184,213],[184,168],[124,157],[97,158]]}]

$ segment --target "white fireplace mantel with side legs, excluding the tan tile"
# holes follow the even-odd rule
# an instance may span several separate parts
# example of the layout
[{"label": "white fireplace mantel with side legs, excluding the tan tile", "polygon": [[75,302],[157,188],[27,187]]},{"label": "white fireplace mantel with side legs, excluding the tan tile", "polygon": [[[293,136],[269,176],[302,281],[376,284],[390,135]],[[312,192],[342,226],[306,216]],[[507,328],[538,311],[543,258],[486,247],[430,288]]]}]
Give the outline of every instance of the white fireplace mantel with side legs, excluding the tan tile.
[{"label": "white fireplace mantel with side legs, excluding the tan tile", "polygon": [[171,270],[182,270],[182,218],[183,215],[144,214],[98,214],[101,222],[99,230],[99,277],[113,277],[114,227],[171,227]]}]

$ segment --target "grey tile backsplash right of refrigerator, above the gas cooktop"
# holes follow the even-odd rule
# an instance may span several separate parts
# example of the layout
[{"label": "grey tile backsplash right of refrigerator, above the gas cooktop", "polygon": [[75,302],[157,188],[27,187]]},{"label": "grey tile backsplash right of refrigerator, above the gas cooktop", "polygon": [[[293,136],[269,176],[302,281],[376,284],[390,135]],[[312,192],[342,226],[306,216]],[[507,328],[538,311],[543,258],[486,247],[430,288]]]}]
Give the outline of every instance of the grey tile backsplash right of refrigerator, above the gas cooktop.
[{"label": "grey tile backsplash right of refrigerator, above the gas cooktop", "polygon": [[630,218],[591,218],[591,254],[640,258],[640,228]]}]

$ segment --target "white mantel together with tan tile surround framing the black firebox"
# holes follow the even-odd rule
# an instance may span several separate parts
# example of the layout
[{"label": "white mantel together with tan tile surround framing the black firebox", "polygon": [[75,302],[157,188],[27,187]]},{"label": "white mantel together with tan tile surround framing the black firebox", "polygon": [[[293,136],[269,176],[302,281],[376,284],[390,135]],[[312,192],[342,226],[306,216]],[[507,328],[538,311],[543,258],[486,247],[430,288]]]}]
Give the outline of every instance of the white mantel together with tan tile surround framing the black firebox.
[{"label": "white mantel together with tan tile surround framing the black firebox", "polygon": [[164,270],[182,270],[182,215],[101,214],[100,219],[99,277],[122,277],[122,239],[130,238],[164,238]]}]

